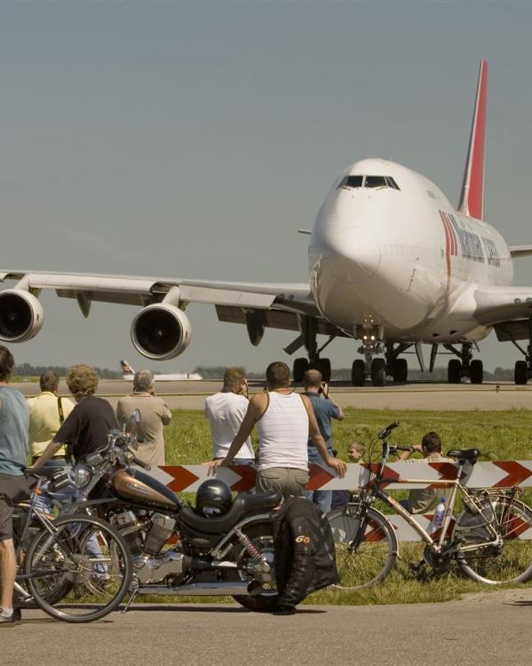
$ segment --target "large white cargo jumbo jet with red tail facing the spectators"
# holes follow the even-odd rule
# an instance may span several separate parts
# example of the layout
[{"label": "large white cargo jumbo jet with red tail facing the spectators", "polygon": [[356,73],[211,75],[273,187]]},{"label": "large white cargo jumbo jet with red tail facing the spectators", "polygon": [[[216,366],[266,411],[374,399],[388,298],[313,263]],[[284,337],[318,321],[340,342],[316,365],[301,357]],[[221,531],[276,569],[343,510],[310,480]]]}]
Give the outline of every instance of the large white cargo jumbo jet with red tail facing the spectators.
[{"label": "large white cargo jumbo jet with red tail facing the spectators", "polygon": [[[483,379],[477,343],[495,329],[524,356],[515,383],[532,377],[532,287],[512,286],[512,260],[532,254],[532,245],[509,247],[484,220],[484,145],[488,62],[480,62],[472,130],[460,202],[455,209],[441,189],[421,174],[384,159],[353,163],[336,180],[310,234],[309,280],[253,283],[97,274],[1,270],[16,280],[0,291],[0,340],[24,342],[43,325],[42,289],[77,301],[85,317],[93,301],[139,305],[131,341],[139,353],[167,361],[185,352],[192,329],[189,303],[214,305],[219,321],[243,324],[251,345],[267,328],[296,331],[284,348],[304,348],[293,363],[300,381],[307,368],[330,377],[324,349],[336,337],[361,341],[352,366],[353,385],[388,377],[405,382],[404,353],[431,345],[452,354],[448,379]],[[318,344],[318,336],[327,336]],[[523,348],[520,340],[527,340]],[[409,350],[411,350],[409,352]]]}]

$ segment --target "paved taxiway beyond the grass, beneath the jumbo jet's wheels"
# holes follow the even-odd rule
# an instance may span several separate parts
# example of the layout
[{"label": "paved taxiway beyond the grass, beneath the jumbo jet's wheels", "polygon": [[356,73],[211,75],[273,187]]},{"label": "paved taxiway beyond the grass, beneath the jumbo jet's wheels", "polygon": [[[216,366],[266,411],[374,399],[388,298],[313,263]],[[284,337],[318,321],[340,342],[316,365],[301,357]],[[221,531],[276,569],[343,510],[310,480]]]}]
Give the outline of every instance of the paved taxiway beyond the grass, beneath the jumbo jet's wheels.
[{"label": "paved taxiway beyond the grass, beneath the jumbo jet's wheels", "polygon": [[[21,382],[14,384],[25,395],[35,395],[38,385]],[[172,409],[202,409],[205,397],[217,392],[220,382],[159,382],[157,392]],[[262,383],[251,383],[251,391],[262,390]],[[61,394],[67,395],[67,386],[61,382]],[[131,392],[131,382],[102,380],[99,395],[105,396],[115,406],[121,395]],[[457,385],[408,384],[376,388],[355,388],[335,382],[331,395],[342,407],[366,409],[514,409],[532,408],[532,385],[513,384]]]}]

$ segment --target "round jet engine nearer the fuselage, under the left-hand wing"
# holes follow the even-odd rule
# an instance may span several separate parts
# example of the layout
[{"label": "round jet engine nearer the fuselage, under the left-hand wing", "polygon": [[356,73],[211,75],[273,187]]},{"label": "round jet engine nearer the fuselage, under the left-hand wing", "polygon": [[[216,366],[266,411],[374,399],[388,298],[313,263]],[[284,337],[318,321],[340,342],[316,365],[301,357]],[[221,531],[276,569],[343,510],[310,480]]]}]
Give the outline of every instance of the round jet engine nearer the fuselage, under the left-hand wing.
[{"label": "round jet engine nearer the fuselage, under the left-hand wing", "polygon": [[141,354],[167,361],[183,353],[192,339],[187,315],[168,303],[147,305],[131,324],[131,342]]}]

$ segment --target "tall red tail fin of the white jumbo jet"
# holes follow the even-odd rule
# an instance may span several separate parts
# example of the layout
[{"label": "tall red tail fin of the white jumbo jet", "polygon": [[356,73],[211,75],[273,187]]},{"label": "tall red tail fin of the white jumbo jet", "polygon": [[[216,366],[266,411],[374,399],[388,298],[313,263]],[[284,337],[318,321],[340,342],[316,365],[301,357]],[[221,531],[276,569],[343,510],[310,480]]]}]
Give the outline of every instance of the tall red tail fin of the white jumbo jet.
[{"label": "tall red tail fin of the white jumbo jet", "polygon": [[484,218],[484,145],[486,139],[486,99],[488,61],[480,61],[479,84],[472,116],[469,150],[465,163],[462,196],[458,210],[470,218]]}]

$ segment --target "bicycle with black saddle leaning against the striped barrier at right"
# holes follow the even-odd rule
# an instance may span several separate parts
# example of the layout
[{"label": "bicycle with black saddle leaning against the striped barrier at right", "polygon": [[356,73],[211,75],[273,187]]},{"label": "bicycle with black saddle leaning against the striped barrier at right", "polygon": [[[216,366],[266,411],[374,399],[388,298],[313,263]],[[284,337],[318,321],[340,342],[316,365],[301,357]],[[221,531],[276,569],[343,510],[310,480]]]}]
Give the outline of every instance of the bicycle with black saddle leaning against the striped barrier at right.
[{"label": "bicycle with black saddle leaning against the striped barrier at right", "polygon": [[[532,510],[518,499],[518,487],[470,490],[462,485],[460,479],[465,465],[476,464],[481,455],[477,448],[448,452],[449,457],[457,459],[455,480],[400,480],[450,488],[442,525],[432,535],[408,509],[381,488],[382,484],[397,482],[397,479],[385,477],[388,457],[397,451],[412,450],[388,444],[387,437],[398,425],[398,422],[390,424],[377,434],[376,440],[382,441],[382,453],[375,472],[370,465],[369,488],[363,489],[345,509],[330,511],[327,516],[336,544],[337,589],[361,590],[381,583],[395,565],[399,543],[390,520],[372,506],[377,500],[405,519],[425,542],[421,564],[442,569],[455,560],[465,575],[480,583],[528,581],[532,577],[532,542],[519,537],[532,529]],[[453,524],[458,494],[464,500],[465,510]]]}]

